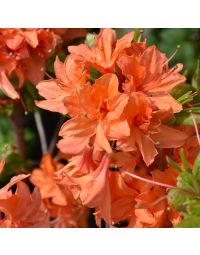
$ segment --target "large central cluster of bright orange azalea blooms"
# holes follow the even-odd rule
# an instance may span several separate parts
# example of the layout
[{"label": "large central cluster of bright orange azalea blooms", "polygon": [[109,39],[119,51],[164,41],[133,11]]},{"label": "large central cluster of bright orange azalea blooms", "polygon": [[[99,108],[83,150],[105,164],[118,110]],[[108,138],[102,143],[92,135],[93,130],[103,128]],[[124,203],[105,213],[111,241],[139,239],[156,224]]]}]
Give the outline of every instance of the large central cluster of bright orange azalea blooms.
[{"label": "large central cluster of bright orange azalea blooms", "polygon": [[[182,64],[169,67],[171,58],[133,39],[133,32],[117,40],[114,30],[102,29],[92,47],[68,47],[65,62],[55,60],[56,78],[36,86],[44,97],[36,105],[70,117],[57,144],[68,163],[54,178],[76,201],[95,208],[99,226],[103,218],[115,227],[167,227],[181,219],[166,200],[178,174],[158,167],[158,152],[167,155],[188,138],[167,125],[182,111],[170,92],[185,77]],[[63,199],[57,186],[46,194],[47,183],[35,181],[44,197]]]}]

